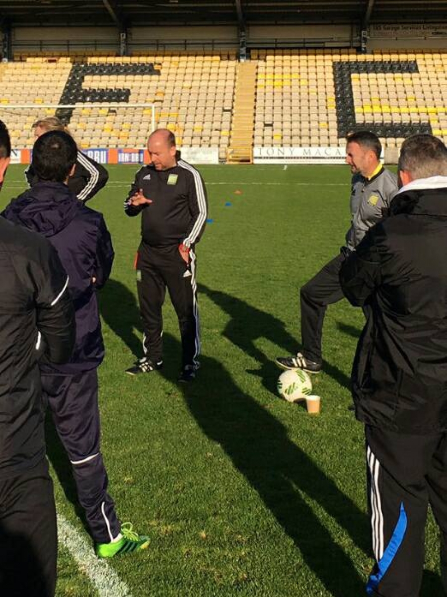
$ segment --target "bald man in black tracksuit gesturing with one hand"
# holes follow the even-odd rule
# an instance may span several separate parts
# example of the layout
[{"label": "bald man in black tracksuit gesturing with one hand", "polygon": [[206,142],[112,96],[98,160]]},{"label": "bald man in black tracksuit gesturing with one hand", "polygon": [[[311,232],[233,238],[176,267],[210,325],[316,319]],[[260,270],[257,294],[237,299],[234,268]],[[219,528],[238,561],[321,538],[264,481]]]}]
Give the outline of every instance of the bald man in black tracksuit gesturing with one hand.
[{"label": "bald man in black tracksuit gesturing with one hand", "polygon": [[125,201],[128,216],[141,213],[136,269],[144,328],[144,356],[127,373],[162,367],[162,304],[168,288],[183,350],[179,381],[192,381],[200,350],[195,245],[205,227],[206,190],[198,171],[177,160],[172,133],[155,131],[147,146],[152,164],[138,171]]}]

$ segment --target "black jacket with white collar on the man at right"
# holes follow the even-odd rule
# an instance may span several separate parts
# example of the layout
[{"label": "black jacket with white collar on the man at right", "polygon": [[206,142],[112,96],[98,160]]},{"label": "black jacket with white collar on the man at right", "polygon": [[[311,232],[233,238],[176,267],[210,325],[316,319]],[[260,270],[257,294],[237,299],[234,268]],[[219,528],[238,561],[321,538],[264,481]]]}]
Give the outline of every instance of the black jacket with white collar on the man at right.
[{"label": "black jacket with white collar on the man at right", "polygon": [[402,433],[447,430],[447,177],[416,180],[341,267],[369,305],[353,365],[359,420]]}]

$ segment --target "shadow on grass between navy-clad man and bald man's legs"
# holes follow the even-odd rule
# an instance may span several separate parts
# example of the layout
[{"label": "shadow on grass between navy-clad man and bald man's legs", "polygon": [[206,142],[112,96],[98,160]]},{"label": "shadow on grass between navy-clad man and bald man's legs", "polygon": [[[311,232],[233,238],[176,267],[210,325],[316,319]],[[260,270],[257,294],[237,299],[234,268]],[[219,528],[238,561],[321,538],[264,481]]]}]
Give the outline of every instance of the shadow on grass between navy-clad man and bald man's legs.
[{"label": "shadow on grass between navy-clad man and bald man's legs", "polygon": [[121,282],[109,279],[98,293],[98,300],[101,315],[110,330],[121,338],[132,355],[140,358],[143,352],[143,333],[140,336],[135,333],[135,327],[141,328],[140,310],[135,294]]}]

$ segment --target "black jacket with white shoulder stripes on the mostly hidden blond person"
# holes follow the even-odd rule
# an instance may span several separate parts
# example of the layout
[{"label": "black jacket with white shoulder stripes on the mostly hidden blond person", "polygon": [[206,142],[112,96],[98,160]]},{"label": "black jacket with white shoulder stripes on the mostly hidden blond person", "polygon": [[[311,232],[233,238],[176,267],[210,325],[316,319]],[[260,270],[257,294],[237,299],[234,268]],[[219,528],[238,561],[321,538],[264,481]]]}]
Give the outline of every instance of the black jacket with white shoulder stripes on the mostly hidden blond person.
[{"label": "black jacket with white shoulder stripes on the mostly hidden blond person", "polygon": [[[39,182],[32,164],[25,170],[25,176],[29,186],[34,186]],[[75,193],[79,201],[87,203],[103,188],[107,180],[109,180],[109,173],[106,168],[85,153],[78,151],[75,172],[68,179],[68,187],[72,193]]]}]

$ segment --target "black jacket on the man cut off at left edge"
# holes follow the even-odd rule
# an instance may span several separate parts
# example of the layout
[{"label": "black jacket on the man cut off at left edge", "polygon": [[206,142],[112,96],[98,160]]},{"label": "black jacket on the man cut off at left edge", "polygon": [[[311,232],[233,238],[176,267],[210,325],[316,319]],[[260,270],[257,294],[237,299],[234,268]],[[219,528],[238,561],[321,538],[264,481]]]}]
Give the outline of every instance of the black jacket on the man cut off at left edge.
[{"label": "black jacket on the man cut off at left edge", "polygon": [[70,358],[75,319],[56,250],[3,217],[0,276],[0,478],[7,478],[44,457],[38,362]]}]

